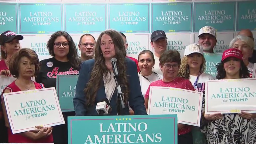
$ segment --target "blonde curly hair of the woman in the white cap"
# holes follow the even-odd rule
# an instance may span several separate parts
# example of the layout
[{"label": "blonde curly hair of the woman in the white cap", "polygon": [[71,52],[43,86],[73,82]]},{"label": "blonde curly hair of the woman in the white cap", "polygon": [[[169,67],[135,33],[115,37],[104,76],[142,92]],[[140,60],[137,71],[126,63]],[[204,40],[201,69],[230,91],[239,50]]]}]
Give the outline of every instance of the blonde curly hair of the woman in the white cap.
[{"label": "blonde curly hair of the woman in the white cap", "polygon": [[[202,64],[200,65],[199,73],[202,74],[205,71],[206,61],[204,56],[202,56]],[[188,65],[188,57],[184,56],[181,60],[181,64],[179,67],[178,77],[183,77],[185,79],[190,79],[189,76],[189,65]]]}]

